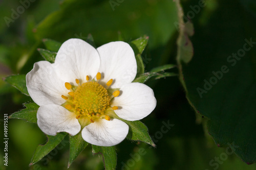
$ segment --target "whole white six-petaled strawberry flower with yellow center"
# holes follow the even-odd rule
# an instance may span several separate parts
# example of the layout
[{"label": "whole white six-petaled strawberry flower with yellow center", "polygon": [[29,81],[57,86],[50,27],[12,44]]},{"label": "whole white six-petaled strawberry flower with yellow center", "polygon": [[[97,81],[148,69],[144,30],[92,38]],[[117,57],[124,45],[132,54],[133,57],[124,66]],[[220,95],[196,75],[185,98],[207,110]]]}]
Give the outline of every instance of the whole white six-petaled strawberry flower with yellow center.
[{"label": "whole white six-petaled strawberry flower with yellow center", "polygon": [[48,135],[81,130],[84,140],[100,146],[120,143],[129,126],[156,107],[153,90],[132,83],[137,64],[131,46],[110,42],[97,49],[80,39],[64,42],[55,63],[39,61],[27,74],[27,88],[39,105],[37,124]]}]

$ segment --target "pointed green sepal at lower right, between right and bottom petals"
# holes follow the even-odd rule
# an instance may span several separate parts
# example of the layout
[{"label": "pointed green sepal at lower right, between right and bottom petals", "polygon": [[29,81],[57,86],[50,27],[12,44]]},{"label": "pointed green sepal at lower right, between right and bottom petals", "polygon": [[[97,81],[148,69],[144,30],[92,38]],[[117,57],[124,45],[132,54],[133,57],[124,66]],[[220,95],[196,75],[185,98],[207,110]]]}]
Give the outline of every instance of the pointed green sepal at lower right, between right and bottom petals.
[{"label": "pointed green sepal at lower right, between right and bottom petals", "polygon": [[155,143],[152,141],[150,135],[148,134],[147,127],[140,122],[137,121],[128,121],[122,119],[123,122],[125,122],[129,126],[129,133],[127,134],[126,138],[131,140],[139,140],[143,141],[145,143],[148,143],[155,147]]}]

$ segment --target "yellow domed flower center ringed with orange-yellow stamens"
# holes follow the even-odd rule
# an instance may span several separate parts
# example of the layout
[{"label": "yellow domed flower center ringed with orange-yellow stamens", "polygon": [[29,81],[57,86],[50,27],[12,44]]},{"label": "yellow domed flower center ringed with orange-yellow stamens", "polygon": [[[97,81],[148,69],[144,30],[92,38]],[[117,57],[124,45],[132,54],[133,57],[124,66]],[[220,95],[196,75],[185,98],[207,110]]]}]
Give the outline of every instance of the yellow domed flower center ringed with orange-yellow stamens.
[{"label": "yellow domed flower center ringed with orange-yellow stamens", "polygon": [[99,80],[101,79],[100,72],[96,75],[95,80],[89,80],[89,76],[86,77],[87,82],[82,83],[76,79],[77,85],[71,85],[66,82],[65,87],[70,90],[69,95],[61,95],[61,98],[66,102],[62,104],[63,107],[69,111],[76,113],[76,118],[86,118],[90,120],[90,123],[94,123],[97,118],[105,118],[110,120],[110,116],[106,115],[107,109],[117,110],[117,106],[110,107],[111,99],[117,97],[120,94],[119,90],[115,90],[112,95],[109,95],[108,88],[112,84],[113,79],[106,83],[106,88],[103,87]]}]

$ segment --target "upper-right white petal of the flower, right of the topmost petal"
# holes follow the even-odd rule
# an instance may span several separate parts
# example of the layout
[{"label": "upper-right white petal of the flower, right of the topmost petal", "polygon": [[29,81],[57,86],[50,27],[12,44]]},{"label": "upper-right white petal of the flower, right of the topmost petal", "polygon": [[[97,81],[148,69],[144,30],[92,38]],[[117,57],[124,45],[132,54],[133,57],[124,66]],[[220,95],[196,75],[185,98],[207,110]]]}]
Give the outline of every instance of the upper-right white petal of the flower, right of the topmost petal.
[{"label": "upper-right white petal of the flower, right of the topmost petal", "polygon": [[100,56],[99,72],[103,73],[102,82],[113,79],[111,88],[120,88],[134,80],[137,64],[129,44],[122,41],[110,42],[98,47],[97,51]]}]

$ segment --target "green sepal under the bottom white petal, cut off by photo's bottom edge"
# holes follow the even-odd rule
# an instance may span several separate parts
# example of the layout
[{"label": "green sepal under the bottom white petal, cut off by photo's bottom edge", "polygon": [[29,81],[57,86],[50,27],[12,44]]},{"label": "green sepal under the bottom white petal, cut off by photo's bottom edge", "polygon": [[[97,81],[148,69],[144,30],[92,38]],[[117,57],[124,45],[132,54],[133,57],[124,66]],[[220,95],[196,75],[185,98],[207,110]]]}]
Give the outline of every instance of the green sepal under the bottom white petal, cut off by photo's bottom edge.
[{"label": "green sepal under the bottom white petal, cut off by photo's bottom edge", "polygon": [[101,154],[106,170],[116,169],[117,156],[115,147],[99,147],[92,145],[93,154]]}]

